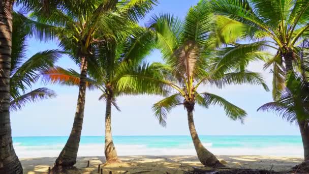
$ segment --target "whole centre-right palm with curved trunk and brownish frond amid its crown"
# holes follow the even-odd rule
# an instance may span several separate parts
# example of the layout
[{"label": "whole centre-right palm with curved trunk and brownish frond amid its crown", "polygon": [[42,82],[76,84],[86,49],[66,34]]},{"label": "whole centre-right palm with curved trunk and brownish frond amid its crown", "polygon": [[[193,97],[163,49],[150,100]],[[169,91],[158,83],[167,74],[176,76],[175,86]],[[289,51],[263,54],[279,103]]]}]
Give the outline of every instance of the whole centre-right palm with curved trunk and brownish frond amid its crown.
[{"label": "whole centre-right palm with curved trunk and brownish frond amid its crown", "polygon": [[201,84],[218,88],[241,83],[266,85],[262,77],[254,72],[210,68],[217,54],[213,51],[215,45],[209,37],[211,19],[206,1],[190,8],[184,21],[168,14],[152,18],[149,25],[157,33],[158,47],[166,62],[165,65],[157,63],[156,66],[164,74],[165,79],[162,82],[166,90],[173,89],[175,92],[155,103],[152,109],[160,124],[166,126],[167,113],[172,108],[183,105],[188,113],[189,130],[200,162],[205,166],[223,166],[199,139],[193,120],[195,104],[206,108],[215,104],[223,106],[231,120],[242,121],[246,112],[220,96],[209,92],[199,93],[198,88]]}]

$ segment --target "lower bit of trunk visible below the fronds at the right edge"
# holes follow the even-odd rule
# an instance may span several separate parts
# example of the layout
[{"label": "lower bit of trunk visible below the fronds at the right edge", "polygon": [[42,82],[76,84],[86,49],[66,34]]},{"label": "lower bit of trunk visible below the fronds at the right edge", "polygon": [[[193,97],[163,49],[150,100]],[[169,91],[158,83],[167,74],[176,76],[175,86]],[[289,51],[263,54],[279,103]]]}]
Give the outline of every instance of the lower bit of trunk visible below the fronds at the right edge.
[{"label": "lower bit of trunk visible below the fronds at the right edge", "polygon": [[309,125],[306,121],[298,121],[303,144],[304,160],[309,160]]}]

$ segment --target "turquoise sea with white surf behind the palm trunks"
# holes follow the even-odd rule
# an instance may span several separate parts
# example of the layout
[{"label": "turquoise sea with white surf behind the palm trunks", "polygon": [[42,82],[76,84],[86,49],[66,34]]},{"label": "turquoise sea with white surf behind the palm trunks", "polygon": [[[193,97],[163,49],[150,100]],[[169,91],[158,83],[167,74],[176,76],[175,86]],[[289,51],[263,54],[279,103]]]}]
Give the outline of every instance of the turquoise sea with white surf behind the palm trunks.
[{"label": "turquoise sea with white surf behind the palm trunks", "polygon": [[[19,158],[55,157],[66,136],[13,137]],[[267,155],[302,157],[300,136],[200,136],[215,155]],[[119,156],[196,155],[190,136],[113,136]],[[104,136],[82,136],[78,156],[103,156]]]}]

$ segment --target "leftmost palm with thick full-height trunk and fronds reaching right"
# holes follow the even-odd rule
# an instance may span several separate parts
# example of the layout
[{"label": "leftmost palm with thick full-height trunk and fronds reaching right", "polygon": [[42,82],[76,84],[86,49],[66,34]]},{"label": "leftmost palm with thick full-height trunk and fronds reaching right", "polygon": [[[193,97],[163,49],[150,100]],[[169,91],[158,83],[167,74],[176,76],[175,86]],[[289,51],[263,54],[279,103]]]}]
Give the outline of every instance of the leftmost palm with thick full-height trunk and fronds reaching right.
[{"label": "leftmost palm with thick full-height trunk and fronds reaching right", "polygon": [[[10,112],[20,108],[27,101],[53,96],[48,89],[37,89],[27,94],[26,87],[35,82],[37,73],[49,68],[60,56],[58,50],[39,52],[26,62],[23,62],[26,35],[46,40],[52,37],[53,28],[27,19],[23,14],[12,11],[13,1],[2,1],[0,17],[4,25],[0,27],[0,124],[4,125],[0,132],[0,173],[22,173],[20,161],[12,143]],[[12,21],[12,15],[14,21]],[[15,28],[16,27],[16,28]],[[14,28],[14,29],[13,29]],[[13,34],[13,37],[12,37]],[[12,45],[12,43],[14,43]],[[42,59],[38,62],[38,60]]]}]

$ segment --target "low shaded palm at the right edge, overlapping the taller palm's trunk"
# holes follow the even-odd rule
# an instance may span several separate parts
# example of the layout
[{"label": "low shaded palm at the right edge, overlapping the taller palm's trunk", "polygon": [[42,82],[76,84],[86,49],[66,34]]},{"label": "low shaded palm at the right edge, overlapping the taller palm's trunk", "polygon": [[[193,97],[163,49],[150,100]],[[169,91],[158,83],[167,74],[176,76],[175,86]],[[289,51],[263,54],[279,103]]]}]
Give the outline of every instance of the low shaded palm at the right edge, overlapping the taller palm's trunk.
[{"label": "low shaded palm at the right edge, overlapping the taller palm's trunk", "polygon": [[[306,124],[309,121],[309,83],[301,74],[291,73],[287,77],[286,88],[281,98],[275,102],[269,102],[261,106],[259,110],[274,111],[283,119],[299,126],[301,137],[309,135]],[[309,160],[309,141],[302,138],[304,144],[304,160]]]}]

